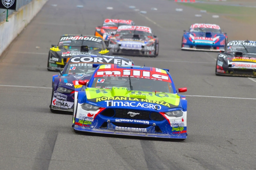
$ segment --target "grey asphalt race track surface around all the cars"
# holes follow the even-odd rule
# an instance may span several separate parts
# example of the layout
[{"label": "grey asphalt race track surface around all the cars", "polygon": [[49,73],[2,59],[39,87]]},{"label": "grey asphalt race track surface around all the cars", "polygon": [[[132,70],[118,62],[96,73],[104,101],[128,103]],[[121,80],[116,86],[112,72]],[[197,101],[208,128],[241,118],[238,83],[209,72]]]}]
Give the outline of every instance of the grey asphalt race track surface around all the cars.
[{"label": "grey asphalt race track surface around all the cars", "polygon": [[[255,169],[255,79],[216,76],[216,53],[180,50],[193,23],[217,23],[230,40],[239,28],[198,13],[168,0],[49,0],[0,57],[0,169]],[[176,87],[188,88],[185,141],[79,135],[72,115],[50,112],[51,44],[63,34],[94,34],[105,18],[131,19],[159,37],[158,57],[127,57],[170,69]]]}]

